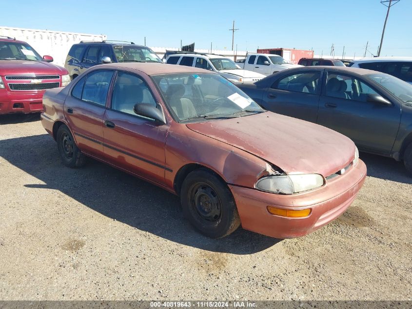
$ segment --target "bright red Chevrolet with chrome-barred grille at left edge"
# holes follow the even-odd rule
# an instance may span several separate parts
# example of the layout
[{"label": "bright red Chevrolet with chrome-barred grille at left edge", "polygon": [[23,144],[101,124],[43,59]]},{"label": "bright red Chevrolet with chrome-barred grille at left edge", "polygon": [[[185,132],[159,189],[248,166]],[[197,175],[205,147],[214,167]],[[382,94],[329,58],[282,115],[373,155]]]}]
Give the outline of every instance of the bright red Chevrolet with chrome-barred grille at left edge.
[{"label": "bright red Chevrolet with chrome-barred grille at left edge", "polygon": [[70,82],[67,70],[52,61],[26,42],[0,37],[0,114],[43,110],[45,90]]}]

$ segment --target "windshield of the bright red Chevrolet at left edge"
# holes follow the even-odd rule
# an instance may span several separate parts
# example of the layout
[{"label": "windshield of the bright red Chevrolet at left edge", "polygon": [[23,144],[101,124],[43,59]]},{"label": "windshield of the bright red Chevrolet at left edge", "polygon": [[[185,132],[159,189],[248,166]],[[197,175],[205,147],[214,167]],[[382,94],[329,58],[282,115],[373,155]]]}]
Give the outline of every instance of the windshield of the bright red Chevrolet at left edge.
[{"label": "windshield of the bright red Chevrolet at left edge", "polygon": [[0,41],[0,60],[44,61],[29,44]]}]

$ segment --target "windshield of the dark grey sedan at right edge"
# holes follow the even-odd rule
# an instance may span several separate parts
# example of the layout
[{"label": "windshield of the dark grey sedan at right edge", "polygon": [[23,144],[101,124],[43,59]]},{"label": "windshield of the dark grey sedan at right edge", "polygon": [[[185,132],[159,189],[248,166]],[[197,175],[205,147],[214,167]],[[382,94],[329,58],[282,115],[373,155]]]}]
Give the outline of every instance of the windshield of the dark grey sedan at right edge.
[{"label": "windshield of the dark grey sedan at right edge", "polygon": [[380,84],[400,101],[404,103],[412,102],[412,86],[409,83],[404,82],[392,75],[382,73],[367,74],[366,76],[374,82]]}]

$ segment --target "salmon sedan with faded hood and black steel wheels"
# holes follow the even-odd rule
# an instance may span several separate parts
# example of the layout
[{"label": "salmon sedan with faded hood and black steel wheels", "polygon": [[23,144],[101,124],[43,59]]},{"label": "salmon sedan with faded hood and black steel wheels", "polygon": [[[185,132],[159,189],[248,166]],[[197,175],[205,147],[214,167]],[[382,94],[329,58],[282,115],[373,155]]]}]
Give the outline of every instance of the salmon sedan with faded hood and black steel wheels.
[{"label": "salmon sedan with faded hood and black steel wheels", "polygon": [[180,196],[219,238],[237,227],[306,235],[353,202],[366,166],[347,137],[259,107],[216,73],[159,63],[97,65],[46,91],[43,127],[64,165],[108,163]]}]

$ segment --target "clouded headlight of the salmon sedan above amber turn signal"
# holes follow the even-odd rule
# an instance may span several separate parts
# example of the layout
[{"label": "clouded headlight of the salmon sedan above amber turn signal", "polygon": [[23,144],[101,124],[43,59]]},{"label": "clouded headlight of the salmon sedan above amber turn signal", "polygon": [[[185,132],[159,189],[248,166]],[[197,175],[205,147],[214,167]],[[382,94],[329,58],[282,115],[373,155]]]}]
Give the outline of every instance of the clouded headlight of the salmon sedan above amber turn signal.
[{"label": "clouded headlight of the salmon sedan above amber turn signal", "polygon": [[322,186],[324,180],[319,174],[297,174],[268,176],[259,179],[255,187],[259,190],[277,194],[293,194]]}]

